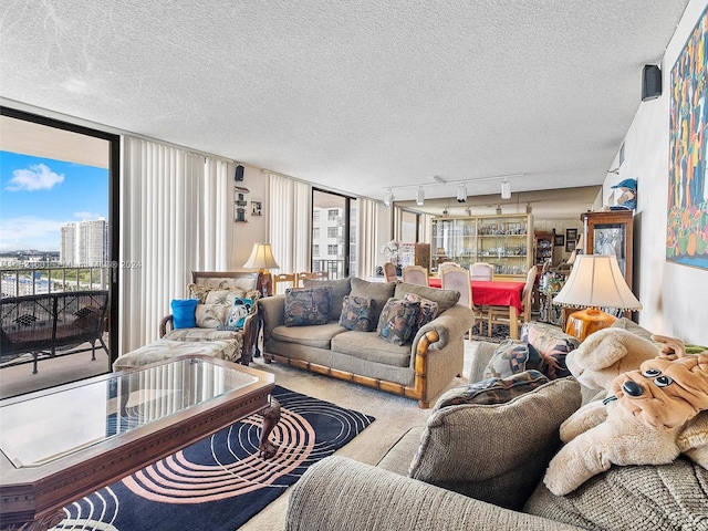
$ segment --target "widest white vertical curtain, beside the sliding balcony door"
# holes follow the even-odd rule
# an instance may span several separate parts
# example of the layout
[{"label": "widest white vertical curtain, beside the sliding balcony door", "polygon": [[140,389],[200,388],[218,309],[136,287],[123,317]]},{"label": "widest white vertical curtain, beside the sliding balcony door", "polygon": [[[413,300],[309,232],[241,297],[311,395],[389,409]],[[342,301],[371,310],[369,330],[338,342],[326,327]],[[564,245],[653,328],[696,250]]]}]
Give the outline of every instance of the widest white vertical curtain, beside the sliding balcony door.
[{"label": "widest white vertical curtain, beside the sliding balcony door", "polygon": [[156,341],[192,270],[226,268],[227,165],[124,137],[118,266],[119,351]]}]

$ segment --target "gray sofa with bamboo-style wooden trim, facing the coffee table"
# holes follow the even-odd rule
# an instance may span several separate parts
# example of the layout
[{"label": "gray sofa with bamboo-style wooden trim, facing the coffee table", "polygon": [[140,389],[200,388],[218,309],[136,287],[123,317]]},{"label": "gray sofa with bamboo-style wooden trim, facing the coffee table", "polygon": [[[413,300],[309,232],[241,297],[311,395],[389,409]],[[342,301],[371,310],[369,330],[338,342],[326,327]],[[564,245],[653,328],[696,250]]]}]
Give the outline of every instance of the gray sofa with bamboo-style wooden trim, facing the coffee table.
[{"label": "gray sofa with bamboo-style wooden trim, facing the coffee table", "polygon": [[[465,332],[473,322],[471,310],[457,304],[457,291],[405,282],[367,282],[352,277],[304,281],[305,289],[331,289],[330,321],[320,325],[287,326],[285,295],[258,301],[263,321],[263,358],[356,384],[415,398],[429,407],[450,381],[462,374]],[[376,330],[362,332],[340,325],[345,295],[376,301],[378,312],[393,298],[413,293],[437,303],[439,313],[410,342],[393,344]],[[375,316],[377,319],[377,316]]]}]

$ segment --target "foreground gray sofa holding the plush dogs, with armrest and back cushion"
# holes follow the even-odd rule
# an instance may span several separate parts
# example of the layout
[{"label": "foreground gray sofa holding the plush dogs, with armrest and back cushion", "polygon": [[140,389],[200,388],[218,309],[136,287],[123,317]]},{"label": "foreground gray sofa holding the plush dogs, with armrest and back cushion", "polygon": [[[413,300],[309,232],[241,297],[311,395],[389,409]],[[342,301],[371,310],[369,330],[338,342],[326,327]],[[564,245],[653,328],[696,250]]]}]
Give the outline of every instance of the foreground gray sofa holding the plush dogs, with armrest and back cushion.
[{"label": "foreground gray sofa holding the plush dogs, with armrest and back cushion", "polygon": [[[498,347],[480,345],[470,381]],[[707,531],[708,471],[683,457],[613,466],[564,497],[544,487],[560,423],[593,394],[561,377],[504,404],[436,405],[377,467],[337,456],[311,467],[285,529]]]}]

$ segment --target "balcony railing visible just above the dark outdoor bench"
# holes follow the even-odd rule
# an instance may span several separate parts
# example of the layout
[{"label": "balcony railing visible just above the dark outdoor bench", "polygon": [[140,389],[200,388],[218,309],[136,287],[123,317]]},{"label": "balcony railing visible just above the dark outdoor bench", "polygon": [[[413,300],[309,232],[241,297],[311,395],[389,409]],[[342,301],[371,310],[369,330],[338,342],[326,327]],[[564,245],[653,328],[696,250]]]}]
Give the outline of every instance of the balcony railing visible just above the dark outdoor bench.
[{"label": "balcony railing visible just above the dark outdoor bench", "polygon": [[62,291],[107,290],[111,268],[103,267],[19,267],[0,269],[1,296],[23,296]]}]

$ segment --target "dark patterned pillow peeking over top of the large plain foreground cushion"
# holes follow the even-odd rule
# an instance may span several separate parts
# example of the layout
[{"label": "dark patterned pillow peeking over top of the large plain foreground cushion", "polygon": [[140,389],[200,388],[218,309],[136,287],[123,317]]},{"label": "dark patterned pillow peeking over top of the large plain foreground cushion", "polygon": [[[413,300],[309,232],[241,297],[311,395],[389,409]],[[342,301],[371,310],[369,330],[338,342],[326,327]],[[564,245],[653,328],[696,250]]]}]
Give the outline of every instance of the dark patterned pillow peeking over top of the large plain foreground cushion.
[{"label": "dark patterned pillow peeking over top of the large plain foreground cushion", "polygon": [[524,371],[504,379],[492,377],[458,385],[440,395],[435,409],[460,404],[506,404],[548,382],[549,378],[539,371]]}]

